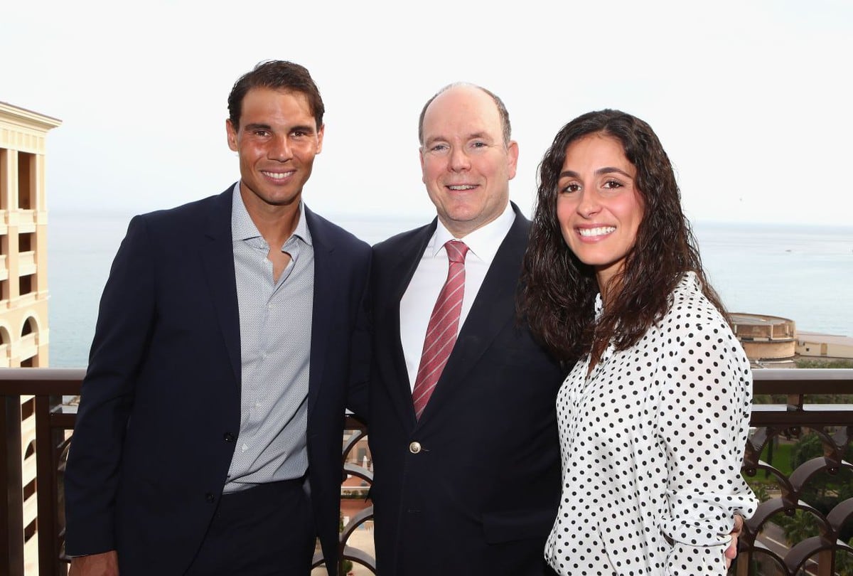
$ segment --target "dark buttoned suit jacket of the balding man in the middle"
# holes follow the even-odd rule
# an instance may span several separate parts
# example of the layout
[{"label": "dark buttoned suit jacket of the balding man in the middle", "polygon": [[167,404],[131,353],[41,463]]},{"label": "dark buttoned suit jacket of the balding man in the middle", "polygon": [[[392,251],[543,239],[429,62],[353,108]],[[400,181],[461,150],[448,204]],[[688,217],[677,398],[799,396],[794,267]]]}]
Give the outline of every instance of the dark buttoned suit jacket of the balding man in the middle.
[{"label": "dark buttoned suit jacket of the balding man in the middle", "polygon": [[436,223],[374,247],[369,442],[381,576],[543,573],[560,497],[563,373],[515,319],[530,223],[514,210],[420,421],[399,311]]}]

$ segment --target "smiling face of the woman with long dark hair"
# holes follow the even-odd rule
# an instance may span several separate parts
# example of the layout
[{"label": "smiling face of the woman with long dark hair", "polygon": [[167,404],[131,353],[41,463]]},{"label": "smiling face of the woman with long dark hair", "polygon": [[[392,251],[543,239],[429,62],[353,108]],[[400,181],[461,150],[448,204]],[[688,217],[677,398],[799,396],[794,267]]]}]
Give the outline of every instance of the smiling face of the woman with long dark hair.
[{"label": "smiling face of the woman with long dark hair", "polygon": [[590,134],[566,147],[557,219],[568,247],[595,268],[602,295],[622,270],[643,218],[635,177],[635,166],[614,137]]}]

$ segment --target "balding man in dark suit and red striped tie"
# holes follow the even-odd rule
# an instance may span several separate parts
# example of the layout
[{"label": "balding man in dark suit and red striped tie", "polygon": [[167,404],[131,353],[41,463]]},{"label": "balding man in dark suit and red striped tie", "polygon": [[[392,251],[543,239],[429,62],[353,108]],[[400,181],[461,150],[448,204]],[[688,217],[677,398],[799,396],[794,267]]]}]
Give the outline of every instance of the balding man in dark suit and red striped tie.
[{"label": "balding man in dark suit and red striped tie", "polygon": [[[377,568],[380,576],[539,576],[548,573],[543,548],[560,497],[554,399],[563,371],[515,318],[530,228],[509,202],[518,145],[500,99],[467,84],[427,102],[420,140],[438,218],[374,247]],[[448,330],[458,336],[433,348],[452,352],[429,390],[422,381],[444,360],[427,352],[427,334],[445,277],[454,276],[452,240],[467,250],[459,319]]]}]

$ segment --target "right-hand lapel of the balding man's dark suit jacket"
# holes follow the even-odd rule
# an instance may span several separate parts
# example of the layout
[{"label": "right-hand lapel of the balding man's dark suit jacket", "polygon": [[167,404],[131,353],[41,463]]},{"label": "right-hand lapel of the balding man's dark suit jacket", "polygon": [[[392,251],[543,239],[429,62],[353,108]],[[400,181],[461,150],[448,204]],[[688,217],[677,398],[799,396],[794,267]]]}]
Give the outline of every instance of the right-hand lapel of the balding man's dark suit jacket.
[{"label": "right-hand lapel of the balding man's dark suit jacket", "polygon": [[521,261],[527,247],[530,221],[513,205],[515,220],[501,242],[483,279],[477,297],[450,352],[447,365],[432,393],[421,422],[428,421],[429,413],[441,410],[445,399],[452,397],[455,387],[461,385],[474,369],[508,322],[514,322],[515,293],[519,282]]}]

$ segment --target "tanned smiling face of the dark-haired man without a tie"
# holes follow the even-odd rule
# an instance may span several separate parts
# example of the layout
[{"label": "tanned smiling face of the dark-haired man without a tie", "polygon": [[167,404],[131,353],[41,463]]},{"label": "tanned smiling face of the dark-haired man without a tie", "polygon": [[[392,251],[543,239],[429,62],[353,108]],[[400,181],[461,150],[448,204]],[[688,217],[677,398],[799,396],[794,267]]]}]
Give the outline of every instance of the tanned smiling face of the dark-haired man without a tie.
[{"label": "tanned smiling face of the dark-haired man without a tie", "polygon": [[240,193],[249,213],[293,207],[322,150],[308,100],[300,92],[252,88],[240,126],[226,120],[229,148],[240,155]]}]

